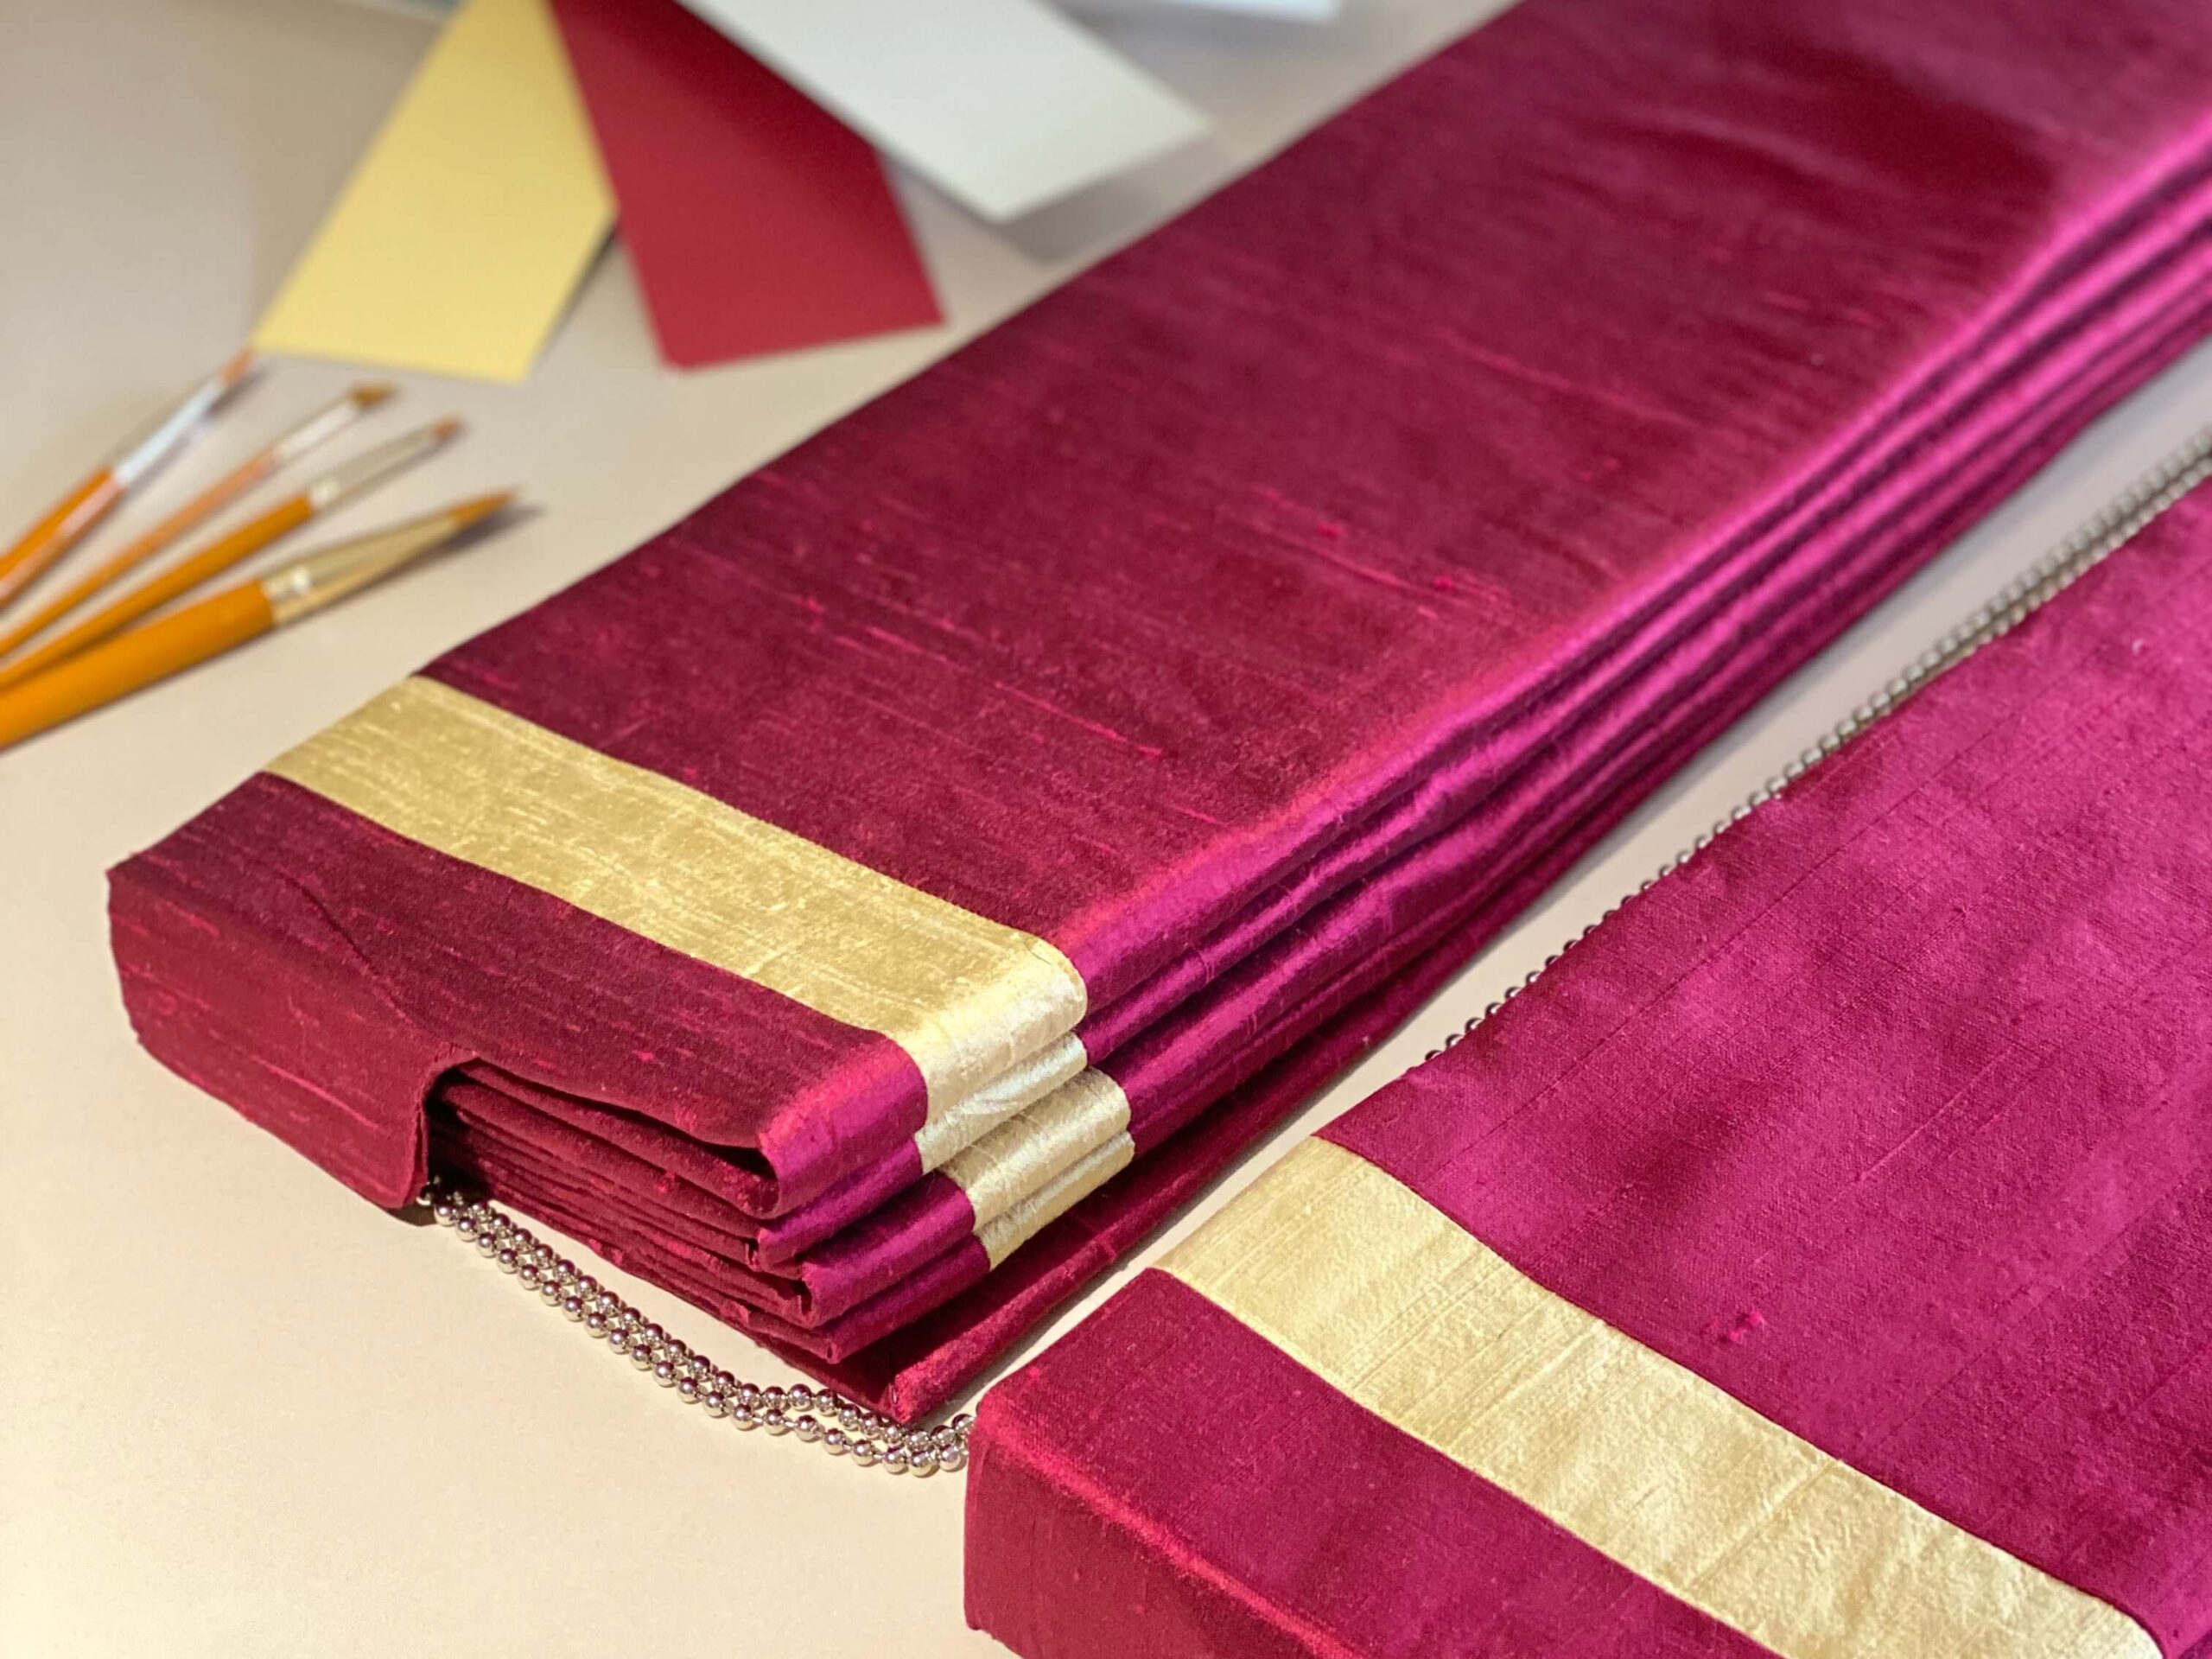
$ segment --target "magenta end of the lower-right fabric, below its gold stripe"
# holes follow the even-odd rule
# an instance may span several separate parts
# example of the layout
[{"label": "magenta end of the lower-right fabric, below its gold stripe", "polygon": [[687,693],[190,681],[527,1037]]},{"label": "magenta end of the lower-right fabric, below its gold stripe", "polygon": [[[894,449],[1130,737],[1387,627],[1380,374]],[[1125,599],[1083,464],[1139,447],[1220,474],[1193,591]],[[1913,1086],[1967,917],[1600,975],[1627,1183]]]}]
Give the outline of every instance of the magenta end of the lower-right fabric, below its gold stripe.
[{"label": "magenta end of the lower-right fabric, below its gold stripe", "polygon": [[969,1619],[1015,1652],[1767,1657],[1166,1274],[1082,1338],[984,1396]]}]

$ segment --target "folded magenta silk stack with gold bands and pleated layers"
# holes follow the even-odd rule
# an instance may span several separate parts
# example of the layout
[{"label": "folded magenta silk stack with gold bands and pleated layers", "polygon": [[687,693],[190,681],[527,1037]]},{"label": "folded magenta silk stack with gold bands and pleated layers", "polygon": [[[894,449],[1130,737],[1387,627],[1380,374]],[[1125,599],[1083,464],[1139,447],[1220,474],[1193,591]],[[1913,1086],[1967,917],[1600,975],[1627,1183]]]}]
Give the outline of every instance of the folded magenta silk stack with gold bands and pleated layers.
[{"label": "folded magenta silk stack with gold bands and pleated layers", "polygon": [[1528,0],[119,867],[133,1020],[927,1411],[2201,338],[2208,71]]}]

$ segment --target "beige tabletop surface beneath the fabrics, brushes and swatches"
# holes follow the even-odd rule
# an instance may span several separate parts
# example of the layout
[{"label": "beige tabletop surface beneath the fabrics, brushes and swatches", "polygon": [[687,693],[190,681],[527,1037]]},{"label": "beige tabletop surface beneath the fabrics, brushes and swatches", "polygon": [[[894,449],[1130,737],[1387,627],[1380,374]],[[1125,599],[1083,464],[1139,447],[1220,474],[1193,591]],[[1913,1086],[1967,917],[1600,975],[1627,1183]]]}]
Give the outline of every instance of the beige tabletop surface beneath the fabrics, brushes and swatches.
[{"label": "beige tabletop surface beneath the fabrics, brushes and swatches", "polygon": [[[942,330],[672,374],[611,252],[526,387],[407,383],[409,422],[453,409],[473,434],[349,522],[504,482],[535,520],[0,754],[0,1652],[995,1652],[962,1628],[960,1480],[894,1482],[677,1407],[473,1252],[146,1060],[108,971],[102,869],[1493,4],[1354,0],[1332,31],[1117,18],[1219,137],[1011,237],[909,190]],[[425,40],[332,0],[0,0],[0,531],[250,327]],[[276,365],[131,518],[345,378]],[[2201,352],[1770,699],[1223,1188],[1418,1060],[2205,418]],[[608,1279],[776,1378],[732,1332]]]}]

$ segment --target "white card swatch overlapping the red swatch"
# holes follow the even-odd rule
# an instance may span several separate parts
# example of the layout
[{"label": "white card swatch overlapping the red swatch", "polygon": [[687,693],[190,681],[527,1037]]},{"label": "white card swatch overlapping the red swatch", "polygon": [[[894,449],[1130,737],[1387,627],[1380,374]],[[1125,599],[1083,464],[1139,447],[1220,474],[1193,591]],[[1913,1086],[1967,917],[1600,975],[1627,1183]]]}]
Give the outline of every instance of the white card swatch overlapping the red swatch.
[{"label": "white card swatch overlapping the red swatch", "polygon": [[1040,0],[684,0],[984,219],[1166,155],[1206,117]]}]

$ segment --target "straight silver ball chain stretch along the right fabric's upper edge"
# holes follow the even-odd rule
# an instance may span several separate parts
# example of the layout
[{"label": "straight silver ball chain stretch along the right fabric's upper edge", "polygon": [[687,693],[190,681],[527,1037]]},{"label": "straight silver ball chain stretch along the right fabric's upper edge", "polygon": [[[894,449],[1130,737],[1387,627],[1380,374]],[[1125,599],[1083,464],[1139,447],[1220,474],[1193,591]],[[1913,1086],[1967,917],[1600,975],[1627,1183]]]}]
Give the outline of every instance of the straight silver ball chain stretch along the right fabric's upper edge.
[{"label": "straight silver ball chain stretch along the right fabric's upper edge", "polygon": [[1918,692],[1931,679],[1942,675],[1947,668],[1955,668],[1960,661],[1978,653],[1991,639],[2000,639],[2026,622],[2031,615],[2042,611],[2051,599],[2070,588],[2093,568],[2104,564],[2108,557],[2119,553],[2128,542],[2143,533],[2152,520],[2159,518],[2168,507],[2179,502],[2201,482],[2212,478],[2212,427],[2199,431],[2181,449],[2152,467],[2143,478],[2135,480],[2126,491],[2121,491],[2097,518],[2066,538],[2051,553],[2039,557],[2017,577],[2004,584],[1993,599],[1989,599],[1980,611],[1960,622],[1951,633],[1920,653],[1918,659],[1887,686],[1882,686],[1874,697],[1845,714],[1836,726],[1832,726],[1820,741],[1801,752],[1790,765],[1770,776],[1756,790],[1752,790],[1725,818],[1719,818],[1705,834],[1692,841],[1688,847],[1668,858],[1659,869],[1655,869],[1635,894],[1626,894],[1615,900],[1604,916],[1584,927],[1575,938],[1562,945],[1557,951],[1546,956],[1537,967],[1528,969],[1517,984],[1509,984],[1504,995],[1491,1002],[1482,1013],[1469,1018],[1458,1031],[1453,1031],[1444,1042],[1431,1048],[1422,1060],[1436,1060],[1444,1048],[1453,1048],[1467,1037],[1475,1035],[1484,1020],[1495,1015],[1504,1004],[1535,984],[1544,969],[1566,956],[1571,949],[1582,945],[1590,933],[1613,920],[1613,916],[1630,898],[1650,891],[1661,880],[1672,876],[1686,863],[1697,858],[1705,847],[1710,847],[1730,825],[1743,823],[1767,801],[1778,796],[1801,776],[1812,772],[1820,761],[1840,750],[1863,730],[1874,726],[1878,719],[1889,714],[1898,703]]}]

